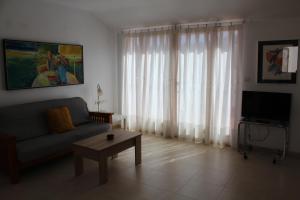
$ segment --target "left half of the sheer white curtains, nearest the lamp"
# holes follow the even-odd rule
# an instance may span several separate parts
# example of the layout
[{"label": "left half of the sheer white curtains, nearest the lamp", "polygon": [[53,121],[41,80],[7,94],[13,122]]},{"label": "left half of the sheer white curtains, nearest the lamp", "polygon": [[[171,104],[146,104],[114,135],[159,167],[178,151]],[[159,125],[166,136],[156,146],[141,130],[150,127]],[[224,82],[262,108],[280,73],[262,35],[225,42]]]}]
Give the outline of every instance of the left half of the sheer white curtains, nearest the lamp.
[{"label": "left half of the sheer white curtains, nearest the lamp", "polygon": [[171,30],[123,38],[122,114],[127,127],[166,135],[170,124]]}]

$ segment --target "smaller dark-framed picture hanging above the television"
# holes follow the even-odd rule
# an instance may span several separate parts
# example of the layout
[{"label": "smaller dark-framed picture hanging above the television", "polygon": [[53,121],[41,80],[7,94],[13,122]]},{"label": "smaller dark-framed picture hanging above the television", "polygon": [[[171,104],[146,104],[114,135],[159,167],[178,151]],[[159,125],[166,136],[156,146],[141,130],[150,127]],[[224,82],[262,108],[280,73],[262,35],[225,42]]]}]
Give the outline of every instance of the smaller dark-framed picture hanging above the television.
[{"label": "smaller dark-framed picture hanging above the television", "polygon": [[258,42],[258,83],[296,83],[296,73],[283,72],[283,49],[297,47],[298,40]]}]

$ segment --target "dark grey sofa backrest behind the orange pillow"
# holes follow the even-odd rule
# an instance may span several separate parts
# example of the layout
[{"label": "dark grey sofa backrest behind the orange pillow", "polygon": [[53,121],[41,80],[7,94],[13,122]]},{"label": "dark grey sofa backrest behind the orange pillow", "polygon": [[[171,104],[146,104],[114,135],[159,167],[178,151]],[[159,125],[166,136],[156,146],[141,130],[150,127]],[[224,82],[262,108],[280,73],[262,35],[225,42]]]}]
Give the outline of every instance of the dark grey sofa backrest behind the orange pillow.
[{"label": "dark grey sofa backrest behind the orange pillow", "polygon": [[80,97],[54,99],[0,108],[0,134],[15,135],[17,141],[48,134],[47,110],[67,106],[74,125],[89,121],[86,102]]}]

